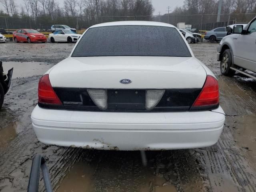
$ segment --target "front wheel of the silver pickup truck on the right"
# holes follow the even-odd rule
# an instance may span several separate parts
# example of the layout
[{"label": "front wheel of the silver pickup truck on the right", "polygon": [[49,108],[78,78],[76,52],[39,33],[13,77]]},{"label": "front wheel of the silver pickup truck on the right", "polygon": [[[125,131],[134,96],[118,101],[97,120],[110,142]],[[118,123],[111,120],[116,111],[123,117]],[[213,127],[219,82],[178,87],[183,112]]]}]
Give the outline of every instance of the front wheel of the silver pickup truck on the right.
[{"label": "front wheel of the silver pickup truck on the right", "polygon": [[225,76],[234,76],[236,71],[230,69],[231,66],[232,66],[232,57],[231,57],[230,49],[226,49],[221,56],[221,61],[220,61],[221,74]]}]

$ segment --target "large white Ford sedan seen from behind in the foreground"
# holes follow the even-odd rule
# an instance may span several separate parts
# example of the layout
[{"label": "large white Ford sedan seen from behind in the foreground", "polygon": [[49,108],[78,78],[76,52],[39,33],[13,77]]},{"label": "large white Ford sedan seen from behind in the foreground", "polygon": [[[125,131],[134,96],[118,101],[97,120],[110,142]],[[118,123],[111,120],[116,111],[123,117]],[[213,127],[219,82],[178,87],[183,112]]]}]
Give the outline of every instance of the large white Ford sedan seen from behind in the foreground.
[{"label": "large white Ford sedan seen from behind in the foreground", "polygon": [[84,32],[40,78],[32,125],[44,144],[102,150],[212,146],[223,129],[218,81],[166,23]]}]

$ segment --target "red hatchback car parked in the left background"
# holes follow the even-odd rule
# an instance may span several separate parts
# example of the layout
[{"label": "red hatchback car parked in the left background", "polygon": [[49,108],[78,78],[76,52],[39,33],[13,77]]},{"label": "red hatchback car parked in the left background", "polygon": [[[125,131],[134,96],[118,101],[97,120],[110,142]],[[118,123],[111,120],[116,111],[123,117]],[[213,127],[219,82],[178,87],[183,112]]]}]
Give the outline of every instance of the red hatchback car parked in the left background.
[{"label": "red hatchback car parked in the left background", "polygon": [[47,41],[44,34],[34,30],[34,29],[18,29],[13,33],[13,39],[15,42],[42,42]]}]

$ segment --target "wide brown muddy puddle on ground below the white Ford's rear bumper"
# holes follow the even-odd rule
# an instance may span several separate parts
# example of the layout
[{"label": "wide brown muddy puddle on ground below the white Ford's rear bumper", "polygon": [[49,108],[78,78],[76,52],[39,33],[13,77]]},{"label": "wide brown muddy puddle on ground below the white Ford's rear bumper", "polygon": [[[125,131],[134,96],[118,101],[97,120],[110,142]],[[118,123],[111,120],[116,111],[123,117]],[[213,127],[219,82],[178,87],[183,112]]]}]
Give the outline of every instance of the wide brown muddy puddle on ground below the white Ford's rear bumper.
[{"label": "wide brown muddy puddle on ground below the white Ford's rear bumper", "polygon": [[[103,163],[104,162],[100,162]],[[118,167],[106,167],[98,170],[98,163],[76,162],[65,178],[58,184],[56,192],[94,192],[99,188],[107,192],[176,192],[176,186],[166,179],[154,175],[154,169],[140,166],[135,170],[123,170]]]}]

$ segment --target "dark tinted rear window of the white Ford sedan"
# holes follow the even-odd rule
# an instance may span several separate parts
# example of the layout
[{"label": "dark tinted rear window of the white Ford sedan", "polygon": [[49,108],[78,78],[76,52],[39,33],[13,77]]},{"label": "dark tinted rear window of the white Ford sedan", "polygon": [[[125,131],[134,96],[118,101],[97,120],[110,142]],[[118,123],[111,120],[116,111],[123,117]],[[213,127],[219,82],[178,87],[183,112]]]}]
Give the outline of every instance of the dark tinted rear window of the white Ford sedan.
[{"label": "dark tinted rear window of the white Ford sedan", "polygon": [[191,57],[191,54],[175,28],[105,26],[90,28],[76,46],[72,56]]}]

